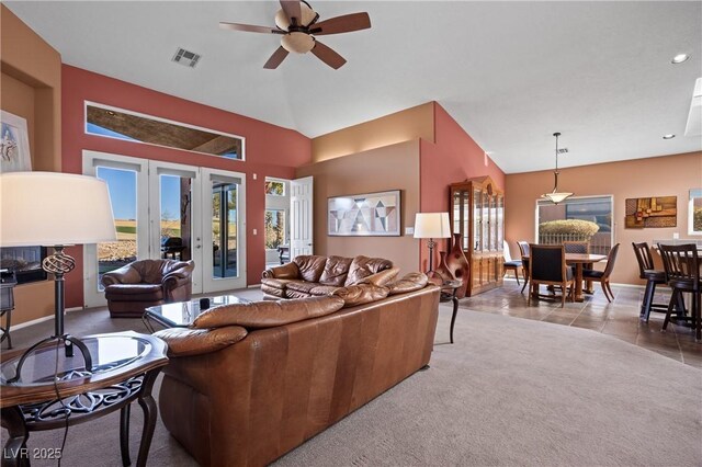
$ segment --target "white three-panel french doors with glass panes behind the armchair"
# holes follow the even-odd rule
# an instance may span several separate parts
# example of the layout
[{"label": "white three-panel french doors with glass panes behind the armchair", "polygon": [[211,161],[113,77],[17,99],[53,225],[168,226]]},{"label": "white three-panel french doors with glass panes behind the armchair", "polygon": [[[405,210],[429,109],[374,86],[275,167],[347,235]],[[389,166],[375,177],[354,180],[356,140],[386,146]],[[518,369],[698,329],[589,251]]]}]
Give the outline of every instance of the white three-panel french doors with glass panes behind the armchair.
[{"label": "white three-panel french doors with glass panes behind the armchair", "polygon": [[105,180],[117,241],[84,247],[84,303],[103,306],[100,277],[141,259],[193,260],[193,293],[246,286],[246,178],[229,171],[83,151]]}]

